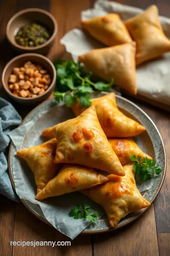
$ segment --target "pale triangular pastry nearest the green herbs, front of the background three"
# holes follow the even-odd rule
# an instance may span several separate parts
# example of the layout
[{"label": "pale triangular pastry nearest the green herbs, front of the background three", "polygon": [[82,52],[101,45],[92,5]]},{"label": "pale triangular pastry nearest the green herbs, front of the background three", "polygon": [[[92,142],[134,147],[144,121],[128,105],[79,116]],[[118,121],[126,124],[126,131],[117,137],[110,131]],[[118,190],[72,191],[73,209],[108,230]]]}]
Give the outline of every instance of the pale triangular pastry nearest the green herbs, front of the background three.
[{"label": "pale triangular pastry nearest the green herbs, front of the background three", "polygon": [[106,81],[136,95],[136,43],[94,49],[78,57],[85,67]]}]

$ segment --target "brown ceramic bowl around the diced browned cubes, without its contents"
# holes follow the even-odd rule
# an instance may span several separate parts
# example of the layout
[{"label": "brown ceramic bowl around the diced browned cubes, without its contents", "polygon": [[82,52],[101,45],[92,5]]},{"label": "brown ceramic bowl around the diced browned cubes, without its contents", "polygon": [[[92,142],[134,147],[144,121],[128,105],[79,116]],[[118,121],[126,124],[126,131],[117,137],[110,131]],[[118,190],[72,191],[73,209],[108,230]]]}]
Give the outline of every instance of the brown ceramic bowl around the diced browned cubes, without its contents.
[{"label": "brown ceramic bowl around the diced browned cubes, without its contents", "polygon": [[[33,64],[40,64],[50,73],[51,75],[51,84],[49,88],[41,95],[38,95],[36,98],[22,98],[14,95],[8,87],[8,79],[10,74],[13,72],[13,68],[23,66],[27,61],[31,61]],[[2,84],[5,91],[8,93],[9,97],[14,101],[17,101],[20,104],[24,105],[35,105],[44,100],[46,100],[52,93],[56,82],[56,70],[52,62],[45,56],[35,53],[27,53],[19,55],[11,59],[3,69],[2,72]]]}]

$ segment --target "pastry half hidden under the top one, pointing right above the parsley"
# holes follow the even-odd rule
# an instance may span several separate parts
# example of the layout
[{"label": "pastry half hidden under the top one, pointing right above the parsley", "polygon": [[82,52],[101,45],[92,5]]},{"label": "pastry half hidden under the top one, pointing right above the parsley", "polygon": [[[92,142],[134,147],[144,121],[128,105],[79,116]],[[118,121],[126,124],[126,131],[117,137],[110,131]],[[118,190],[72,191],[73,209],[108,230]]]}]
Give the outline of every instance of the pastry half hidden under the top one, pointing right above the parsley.
[{"label": "pastry half hidden under the top one, pointing right above the parsley", "polygon": [[147,157],[148,159],[152,159],[151,156],[145,154],[142,149],[140,149],[135,141],[132,138],[110,138],[108,139],[110,145],[112,146],[112,149],[116,153],[116,155],[119,158],[119,161],[122,165],[127,165],[131,162],[130,156],[131,155],[139,155],[142,156],[141,160],[144,159],[144,157]]}]

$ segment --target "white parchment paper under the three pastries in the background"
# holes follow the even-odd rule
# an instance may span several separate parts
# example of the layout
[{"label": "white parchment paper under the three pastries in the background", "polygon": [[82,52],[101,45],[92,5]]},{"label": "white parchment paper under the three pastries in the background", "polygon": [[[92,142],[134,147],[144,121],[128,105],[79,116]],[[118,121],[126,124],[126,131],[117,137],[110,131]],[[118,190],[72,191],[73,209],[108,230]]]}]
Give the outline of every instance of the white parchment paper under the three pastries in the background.
[{"label": "white parchment paper under the three pastries in the background", "polygon": [[[142,11],[142,9],[116,2],[98,0],[93,9],[81,12],[81,19],[85,20],[115,12],[120,15],[122,20],[126,20]],[[166,36],[170,38],[170,18],[160,17],[160,20]],[[95,48],[105,47],[83,30],[77,28],[69,31],[60,40],[60,43],[66,47],[67,52],[72,55],[75,61],[78,55]],[[137,66],[136,73],[139,95],[170,105],[170,53]]]}]

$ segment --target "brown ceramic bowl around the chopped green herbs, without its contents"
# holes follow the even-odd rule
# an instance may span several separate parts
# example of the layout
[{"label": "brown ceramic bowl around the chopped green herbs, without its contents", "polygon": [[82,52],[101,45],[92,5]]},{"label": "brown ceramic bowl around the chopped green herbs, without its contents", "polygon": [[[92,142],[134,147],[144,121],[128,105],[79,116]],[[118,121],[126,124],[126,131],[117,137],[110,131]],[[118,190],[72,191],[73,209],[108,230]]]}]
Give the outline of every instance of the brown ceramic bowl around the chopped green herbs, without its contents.
[{"label": "brown ceramic bowl around the chopped green herbs, without its contents", "polygon": [[[15,41],[15,36],[17,35],[17,31],[19,30],[19,28],[34,22],[40,23],[40,25],[44,25],[44,27],[49,30],[49,32],[51,33],[50,39],[41,46],[25,47],[18,45]],[[8,41],[18,52],[34,52],[39,54],[46,54],[54,43],[54,39],[57,34],[57,21],[51,15],[51,13],[45,10],[37,8],[25,9],[17,12],[8,21],[6,33]]]}]

